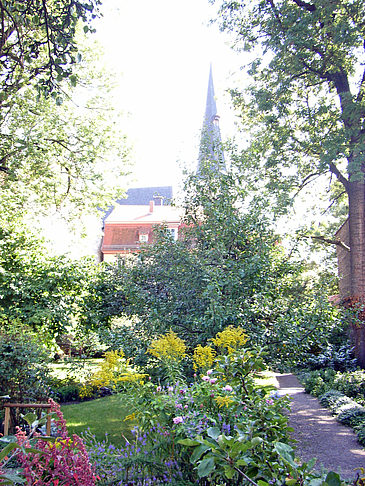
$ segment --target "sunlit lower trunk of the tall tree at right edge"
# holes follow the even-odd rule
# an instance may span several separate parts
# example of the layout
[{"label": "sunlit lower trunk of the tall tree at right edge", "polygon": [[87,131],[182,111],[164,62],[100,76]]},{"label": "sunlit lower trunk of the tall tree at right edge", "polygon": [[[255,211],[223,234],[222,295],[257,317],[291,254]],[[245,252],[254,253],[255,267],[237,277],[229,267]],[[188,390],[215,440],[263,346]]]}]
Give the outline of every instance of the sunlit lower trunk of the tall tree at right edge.
[{"label": "sunlit lower trunk of the tall tree at right edge", "polygon": [[[365,183],[349,182],[350,304],[365,305]],[[351,323],[355,356],[365,368],[365,313],[359,310]]]}]

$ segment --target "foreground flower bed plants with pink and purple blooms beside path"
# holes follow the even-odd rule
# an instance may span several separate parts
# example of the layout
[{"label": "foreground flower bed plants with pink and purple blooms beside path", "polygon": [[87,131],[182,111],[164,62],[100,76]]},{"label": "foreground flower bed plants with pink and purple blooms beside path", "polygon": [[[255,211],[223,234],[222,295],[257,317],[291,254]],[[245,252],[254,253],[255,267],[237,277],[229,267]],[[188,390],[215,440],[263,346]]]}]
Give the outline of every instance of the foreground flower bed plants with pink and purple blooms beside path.
[{"label": "foreground flower bed plants with pink and purple blooms beside path", "polygon": [[114,447],[85,436],[101,484],[340,486],[336,473],[313,471],[314,459],[295,460],[283,413],[289,400],[254,384],[263,367],[261,351],[241,344],[190,385],[146,382],[129,393],[134,440]]}]

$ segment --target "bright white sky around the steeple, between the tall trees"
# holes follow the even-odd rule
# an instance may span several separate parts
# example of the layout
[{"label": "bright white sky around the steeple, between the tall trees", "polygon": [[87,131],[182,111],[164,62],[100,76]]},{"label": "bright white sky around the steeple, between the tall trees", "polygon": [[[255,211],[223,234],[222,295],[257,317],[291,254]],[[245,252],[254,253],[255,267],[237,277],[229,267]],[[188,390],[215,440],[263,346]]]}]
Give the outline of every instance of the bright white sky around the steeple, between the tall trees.
[{"label": "bright white sky around the steeple, between the tall trees", "polygon": [[117,73],[115,102],[129,113],[121,131],[134,147],[132,185],[176,185],[180,162],[196,164],[211,62],[222,137],[233,134],[225,90],[243,55],[208,26],[208,0],[104,0],[102,11],[97,37]]}]

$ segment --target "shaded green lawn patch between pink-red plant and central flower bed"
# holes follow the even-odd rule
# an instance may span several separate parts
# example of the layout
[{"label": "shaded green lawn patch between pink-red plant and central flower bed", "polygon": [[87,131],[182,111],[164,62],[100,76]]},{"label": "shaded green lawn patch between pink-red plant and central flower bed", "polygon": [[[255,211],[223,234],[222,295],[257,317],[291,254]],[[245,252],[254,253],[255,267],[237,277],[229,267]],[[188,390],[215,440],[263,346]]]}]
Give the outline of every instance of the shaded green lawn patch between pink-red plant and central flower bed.
[{"label": "shaded green lawn patch between pink-red plant and central flower bed", "polygon": [[123,395],[63,405],[61,411],[70,434],[80,435],[89,427],[97,440],[105,439],[107,433],[114,445],[124,442],[123,435],[130,439],[130,427],[135,425],[131,421],[124,422],[130,410],[123,406]]}]

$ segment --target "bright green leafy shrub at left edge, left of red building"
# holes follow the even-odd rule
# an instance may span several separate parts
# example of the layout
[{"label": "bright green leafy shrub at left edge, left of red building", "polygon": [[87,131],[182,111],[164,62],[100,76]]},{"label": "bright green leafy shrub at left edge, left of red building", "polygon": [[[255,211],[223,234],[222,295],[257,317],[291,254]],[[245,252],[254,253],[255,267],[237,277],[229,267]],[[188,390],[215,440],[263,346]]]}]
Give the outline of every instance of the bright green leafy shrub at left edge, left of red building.
[{"label": "bright green leafy shrub at left edge, left of red building", "polygon": [[52,257],[44,243],[18,225],[0,226],[0,316],[19,319],[44,339],[72,328],[84,289],[97,272],[91,258]]}]

